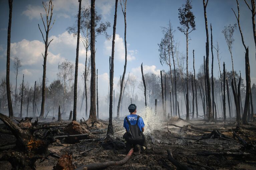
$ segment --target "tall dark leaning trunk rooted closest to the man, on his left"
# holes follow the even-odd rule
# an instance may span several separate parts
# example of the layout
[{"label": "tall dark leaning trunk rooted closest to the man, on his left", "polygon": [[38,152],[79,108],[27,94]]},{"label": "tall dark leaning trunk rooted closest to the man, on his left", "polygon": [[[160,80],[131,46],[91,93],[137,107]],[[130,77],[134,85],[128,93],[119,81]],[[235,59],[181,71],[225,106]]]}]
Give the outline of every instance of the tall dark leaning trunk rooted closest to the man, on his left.
[{"label": "tall dark leaning trunk rooted closest to the man, on his left", "polygon": [[[92,0],[93,1],[93,0]],[[112,53],[111,53],[111,69],[110,69],[110,95],[109,95],[109,121],[107,126],[107,140],[114,139],[114,130],[112,125],[112,115],[113,115],[113,78],[114,78],[114,48],[115,48],[115,26],[116,26],[116,13],[117,13],[117,3],[118,0],[115,0],[115,15],[114,15],[114,25],[113,25],[113,39],[112,39]]]}]

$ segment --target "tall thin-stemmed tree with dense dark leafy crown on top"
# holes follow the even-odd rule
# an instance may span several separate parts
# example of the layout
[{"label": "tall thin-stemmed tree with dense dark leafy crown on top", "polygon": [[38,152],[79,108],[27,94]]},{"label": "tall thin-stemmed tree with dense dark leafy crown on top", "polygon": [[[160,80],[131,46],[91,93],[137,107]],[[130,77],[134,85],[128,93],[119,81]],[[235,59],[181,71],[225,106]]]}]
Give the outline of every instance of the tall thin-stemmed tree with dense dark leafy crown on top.
[{"label": "tall thin-stemmed tree with dense dark leafy crown on top", "polygon": [[189,48],[189,34],[196,30],[196,24],[195,24],[195,16],[193,12],[191,11],[192,5],[190,0],[186,1],[186,4],[182,5],[183,8],[179,8],[179,20],[181,27],[178,27],[178,30],[184,33],[186,36],[186,42],[187,42],[187,93],[186,93],[186,120],[189,120],[189,82],[188,82],[188,48]]}]

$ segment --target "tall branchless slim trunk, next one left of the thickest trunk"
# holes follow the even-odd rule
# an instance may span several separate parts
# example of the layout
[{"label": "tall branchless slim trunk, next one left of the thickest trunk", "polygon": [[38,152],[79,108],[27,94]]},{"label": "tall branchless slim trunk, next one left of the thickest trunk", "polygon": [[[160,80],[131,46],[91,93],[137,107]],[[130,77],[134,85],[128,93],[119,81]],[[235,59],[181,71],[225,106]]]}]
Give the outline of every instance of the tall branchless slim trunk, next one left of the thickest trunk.
[{"label": "tall branchless slim trunk, next one left of the thickest trunk", "polygon": [[75,57],[75,82],[74,82],[74,104],[73,104],[73,121],[76,121],[76,99],[77,99],[77,72],[78,72],[78,57],[79,57],[79,38],[80,38],[80,19],[81,19],[81,1],[79,2],[78,20],[77,20],[77,42],[76,42],[76,57]]}]

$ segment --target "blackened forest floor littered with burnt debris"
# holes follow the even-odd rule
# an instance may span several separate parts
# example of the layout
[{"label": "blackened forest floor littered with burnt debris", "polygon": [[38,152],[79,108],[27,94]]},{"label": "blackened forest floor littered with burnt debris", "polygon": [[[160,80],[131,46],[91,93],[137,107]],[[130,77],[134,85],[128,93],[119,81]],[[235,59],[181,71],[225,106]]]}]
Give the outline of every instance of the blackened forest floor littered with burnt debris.
[{"label": "blackened forest floor littered with burnt debris", "polygon": [[[85,124],[82,126],[94,134],[96,139],[100,139],[107,131],[107,121],[101,122],[101,128],[87,127]],[[67,123],[69,122],[66,122],[66,125]],[[116,139],[124,141],[123,121],[114,119],[113,126]],[[5,128],[5,125],[0,127]],[[58,135],[63,135],[63,127],[54,128],[59,131]],[[253,147],[256,143],[256,122],[250,122],[250,125],[237,129],[232,121],[224,124],[221,121],[208,123],[203,120],[191,120],[187,123],[178,118],[171,118],[168,122],[163,122],[162,127],[148,128],[145,130],[148,130],[145,133],[148,142],[146,151],[141,154],[133,153],[124,165],[110,166],[107,169],[176,169],[168,160],[167,149],[172,151],[174,159],[193,169],[256,169],[256,152]],[[214,129],[225,136],[211,135]],[[233,131],[245,140],[246,144],[237,138],[234,139]],[[72,154],[72,163],[76,168],[90,163],[118,161],[126,155],[125,148],[109,147],[110,145],[104,145],[100,140],[85,139],[70,144],[64,139],[60,137],[48,146],[48,151],[53,154],[36,160],[37,170],[53,169],[58,157],[67,153]],[[0,147],[12,146],[15,140],[13,135],[0,134]],[[6,149],[1,149],[0,152],[4,150]],[[12,168],[7,161],[0,161],[0,167],[5,170]]]}]

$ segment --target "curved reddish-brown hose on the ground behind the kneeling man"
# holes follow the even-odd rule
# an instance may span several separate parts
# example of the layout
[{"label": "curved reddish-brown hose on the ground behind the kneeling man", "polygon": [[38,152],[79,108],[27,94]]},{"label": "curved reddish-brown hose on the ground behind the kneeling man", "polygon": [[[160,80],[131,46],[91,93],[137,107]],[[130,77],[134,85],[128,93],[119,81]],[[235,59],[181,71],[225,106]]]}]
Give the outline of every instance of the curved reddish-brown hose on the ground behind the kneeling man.
[{"label": "curved reddish-brown hose on the ground behind the kneeling man", "polygon": [[105,169],[112,165],[123,165],[125,164],[132,156],[134,150],[133,148],[128,152],[128,154],[120,161],[107,161],[102,163],[95,163],[95,164],[88,164],[88,165],[82,165],[75,170],[96,170],[96,169]]}]

